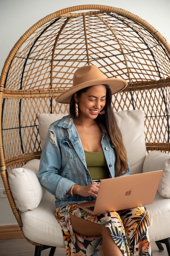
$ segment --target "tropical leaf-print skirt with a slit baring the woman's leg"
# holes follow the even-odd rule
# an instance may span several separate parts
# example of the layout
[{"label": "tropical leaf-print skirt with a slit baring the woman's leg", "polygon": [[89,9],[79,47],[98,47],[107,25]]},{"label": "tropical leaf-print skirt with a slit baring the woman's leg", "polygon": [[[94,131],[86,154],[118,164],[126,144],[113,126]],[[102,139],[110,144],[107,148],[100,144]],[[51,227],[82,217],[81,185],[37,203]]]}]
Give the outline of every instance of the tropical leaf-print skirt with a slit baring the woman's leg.
[{"label": "tropical leaf-print skirt with a slit baring the woman's leg", "polygon": [[102,256],[102,236],[81,236],[74,232],[70,214],[101,225],[110,234],[124,256],[151,256],[148,238],[150,216],[145,206],[93,215],[76,204],[56,208],[55,217],[61,225],[67,256]]}]

